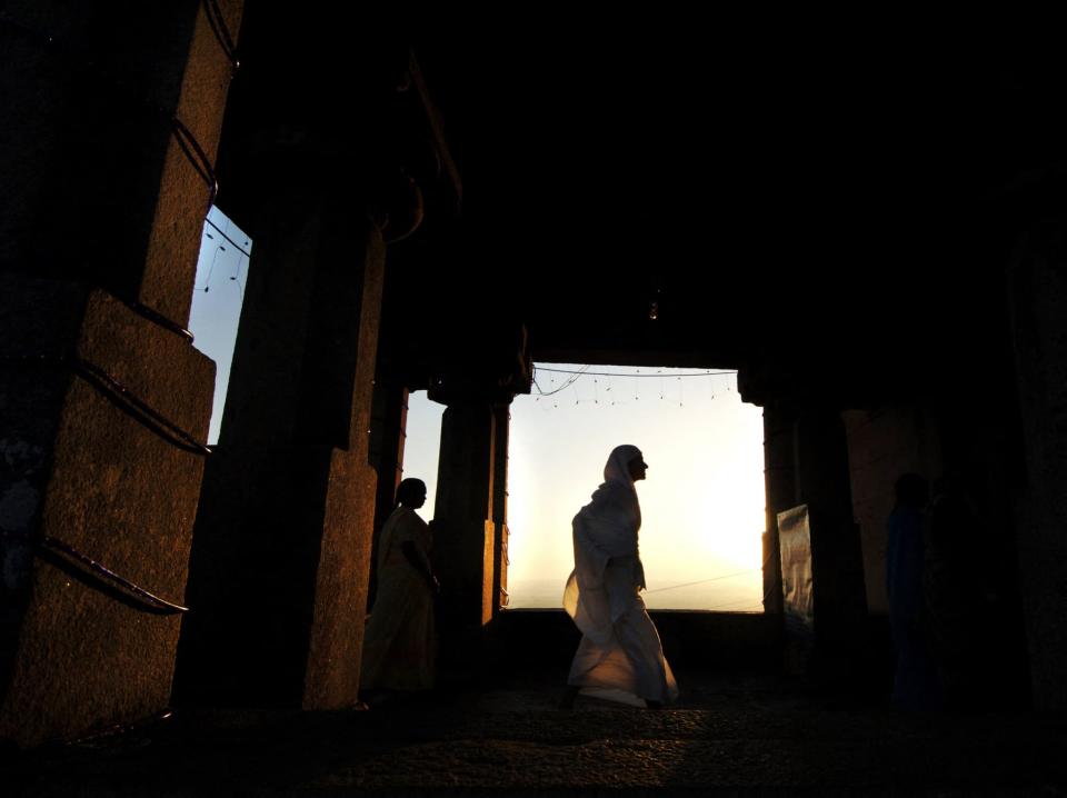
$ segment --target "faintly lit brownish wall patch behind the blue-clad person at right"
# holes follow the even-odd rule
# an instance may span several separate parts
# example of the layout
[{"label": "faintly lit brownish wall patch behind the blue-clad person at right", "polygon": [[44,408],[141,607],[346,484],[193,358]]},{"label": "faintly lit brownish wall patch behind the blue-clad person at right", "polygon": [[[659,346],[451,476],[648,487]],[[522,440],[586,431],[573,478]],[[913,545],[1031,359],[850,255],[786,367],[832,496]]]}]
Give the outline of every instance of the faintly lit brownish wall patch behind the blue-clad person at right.
[{"label": "faintly lit brownish wall patch behind the blue-clad person at right", "polygon": [[888,611],[886,597],[886,520],[896,503],[894,483],[901,473],[941,472],[940,440],[930,415],[914,407],[847,410],[848,463],[852,513],[864,550],[864,581],[871,612]]}]

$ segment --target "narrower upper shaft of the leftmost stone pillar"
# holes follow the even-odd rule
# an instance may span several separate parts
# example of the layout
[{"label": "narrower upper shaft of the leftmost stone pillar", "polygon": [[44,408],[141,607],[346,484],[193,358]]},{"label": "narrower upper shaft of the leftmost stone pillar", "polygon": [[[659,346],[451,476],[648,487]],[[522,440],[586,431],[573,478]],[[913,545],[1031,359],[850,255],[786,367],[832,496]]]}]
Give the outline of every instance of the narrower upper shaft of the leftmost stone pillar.
[{"label": "narrower upper shaft of the leftmost stone pillar", "polygon": [[[242,0],[219,7],[236,38]],[[0,120],[0,267],[98,285],[185,323],[209,187],[170,120],[212,159],[230,81],[203,4],[4,12],[0,97],[18,112]]]}]

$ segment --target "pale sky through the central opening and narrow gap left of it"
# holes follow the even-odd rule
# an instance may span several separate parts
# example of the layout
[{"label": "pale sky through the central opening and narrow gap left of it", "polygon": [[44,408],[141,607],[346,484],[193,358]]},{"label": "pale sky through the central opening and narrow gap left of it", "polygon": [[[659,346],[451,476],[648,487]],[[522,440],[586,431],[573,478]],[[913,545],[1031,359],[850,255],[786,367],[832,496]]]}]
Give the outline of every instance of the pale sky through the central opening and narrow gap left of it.
[{"label": "pale sky through the central opening and narrow gap left of it", "polygon": [[[649,606],[761,609],[762,413],[740,401],[736,376],[640,369],[646,376],[585,375],[564,387],[571,375],[548,369],[581,367],[538,367],[541,390],[561,390],[538,398],[535,388],[511,406],[512,606],[559,606],[574,565],[570,519],[602,481],[611,449],[634,443],[649,463],[648,479],[638,482]],[[405,475],[427,481],[429,516],[445,408],[421,391],[408,408]],[[675,587],[687,582],[700,585]]]}]

